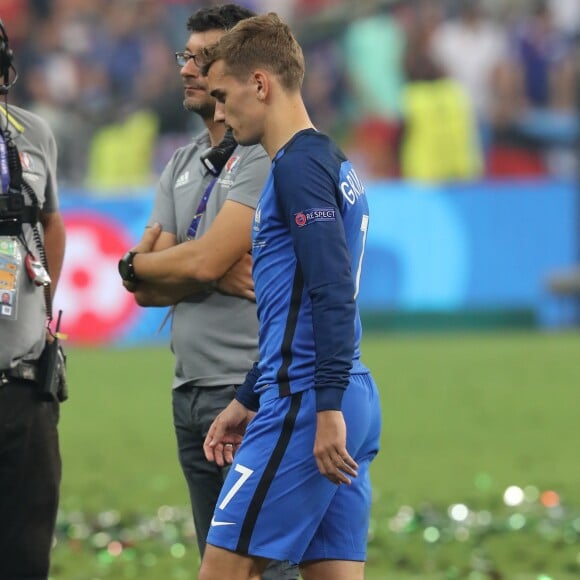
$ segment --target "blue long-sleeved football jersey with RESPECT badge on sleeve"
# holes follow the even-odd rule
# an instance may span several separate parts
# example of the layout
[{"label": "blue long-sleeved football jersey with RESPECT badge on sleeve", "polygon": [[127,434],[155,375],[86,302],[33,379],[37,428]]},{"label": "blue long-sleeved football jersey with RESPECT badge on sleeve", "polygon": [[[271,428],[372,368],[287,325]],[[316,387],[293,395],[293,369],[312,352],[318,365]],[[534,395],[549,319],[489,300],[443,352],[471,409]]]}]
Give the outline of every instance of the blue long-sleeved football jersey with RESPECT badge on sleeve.
[{"label": "blue long-sleeved football jersey with RESPECT badge on sleeve", "polygon": [[256,394],[315,387],[319,410],[339,409],[351,372],[367,372],[356,297],[368,225],[350,161],[326,135],[297,133],[273,159],[253,223]]}]

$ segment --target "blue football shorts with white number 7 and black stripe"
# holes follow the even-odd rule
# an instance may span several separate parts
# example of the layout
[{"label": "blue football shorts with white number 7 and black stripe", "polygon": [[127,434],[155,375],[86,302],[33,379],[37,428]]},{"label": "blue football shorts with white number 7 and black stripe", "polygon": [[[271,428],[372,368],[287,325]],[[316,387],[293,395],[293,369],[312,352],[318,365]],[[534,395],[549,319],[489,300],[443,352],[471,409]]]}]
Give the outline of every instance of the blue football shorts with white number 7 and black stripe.
[{"label": "blue football shorts with white number 7 and black stripe", "polygon": [[331,483],[312,453],[314,389],[260,406],[218,499],[207,542],[242,554],[306,562],[366,559],[369,465],[381,410],[369,373],[351,375],[342,403],[347,449],[359,465],[351,485]]}]

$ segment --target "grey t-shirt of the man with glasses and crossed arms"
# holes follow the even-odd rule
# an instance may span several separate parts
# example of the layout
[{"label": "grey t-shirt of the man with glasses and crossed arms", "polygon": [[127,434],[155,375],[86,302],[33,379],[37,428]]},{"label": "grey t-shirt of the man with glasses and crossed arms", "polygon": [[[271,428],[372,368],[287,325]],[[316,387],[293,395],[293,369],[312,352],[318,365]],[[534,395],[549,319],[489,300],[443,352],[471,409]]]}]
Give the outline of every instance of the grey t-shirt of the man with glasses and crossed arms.
[{"label": "grey t-shirt of the man with glasses and crossed arms", "polygon": [[[187,230],[213,176],[200,161],[209,147],[202,133],[178,149],[165,167],[155,193],[150,224],[187,240]],[[211,188],[197,228],[203,236],[226,200],[255,208],[270,160],[260,145],[237,147]],[[214,387],[243,382],[258,353],[256,305],[219,292],[193,295],[174,307],[171,349],[175,355],[173,387],[184,383]]]}]

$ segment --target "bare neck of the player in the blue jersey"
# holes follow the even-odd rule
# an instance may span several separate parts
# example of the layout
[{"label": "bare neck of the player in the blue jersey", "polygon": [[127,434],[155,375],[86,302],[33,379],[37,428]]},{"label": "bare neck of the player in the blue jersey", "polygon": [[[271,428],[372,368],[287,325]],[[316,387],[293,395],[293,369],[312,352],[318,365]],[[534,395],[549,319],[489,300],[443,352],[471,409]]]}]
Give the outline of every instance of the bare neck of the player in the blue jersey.
[{"label": "bare neck of the player in the blue jersey", "polygon": [[272,108],[266,120],[262,146],[270,159],[273,159],[296,133],[314,128],[302,97],[297,94]]}]

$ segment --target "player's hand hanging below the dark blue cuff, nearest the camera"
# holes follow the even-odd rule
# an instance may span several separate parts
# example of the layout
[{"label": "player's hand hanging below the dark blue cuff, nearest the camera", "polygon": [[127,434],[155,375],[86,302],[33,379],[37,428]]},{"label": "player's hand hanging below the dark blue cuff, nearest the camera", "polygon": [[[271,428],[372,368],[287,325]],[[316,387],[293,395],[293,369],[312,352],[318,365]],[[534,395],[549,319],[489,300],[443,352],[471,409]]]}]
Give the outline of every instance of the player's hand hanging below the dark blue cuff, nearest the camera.
[{"label": "player's hand hanging below the dark blue cuff, nearest the camera", "polygon": [[314,458],[318,469],[332,483],[350,484],[358,464],[346,450],[346,424],[341,411],[316,413]]}]

